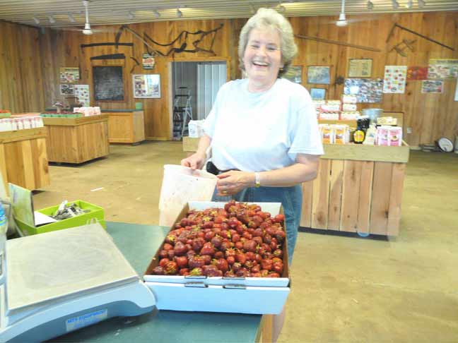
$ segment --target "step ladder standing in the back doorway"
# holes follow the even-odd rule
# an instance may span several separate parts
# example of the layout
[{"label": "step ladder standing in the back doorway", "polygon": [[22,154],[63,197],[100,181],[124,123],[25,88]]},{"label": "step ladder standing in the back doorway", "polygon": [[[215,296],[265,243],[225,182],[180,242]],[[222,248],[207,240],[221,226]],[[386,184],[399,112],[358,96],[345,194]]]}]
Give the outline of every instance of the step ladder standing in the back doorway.
[{"label": "step ladder standing in the back doorway", "polygon": [[178,87],[173,100],[173,139],[181,140],[192,120],[191,90]]}]

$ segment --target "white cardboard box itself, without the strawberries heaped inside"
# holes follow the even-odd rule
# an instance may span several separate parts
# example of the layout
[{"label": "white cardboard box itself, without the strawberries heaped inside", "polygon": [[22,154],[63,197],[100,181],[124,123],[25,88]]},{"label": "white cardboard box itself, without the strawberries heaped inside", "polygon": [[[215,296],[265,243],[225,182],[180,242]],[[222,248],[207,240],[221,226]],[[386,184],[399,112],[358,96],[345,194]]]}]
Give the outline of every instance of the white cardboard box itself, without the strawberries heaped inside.
[{"label": "white cardboard box itself, without the strawberries heaped inside", "polygon": [[[180,222],[188,210],[224,207],[224,204],[211,201],[189,202],[175,223]],[[281,203],[257,205],[272,216],[283,213]],[[253,314],[278,314],[283,310],[290,292],[286,239],[283,246],[283,274],[278,278],[150,275],[159,263],[159,251],[160,248],[143,275],[146,285],[153,291],[159,310]]]}]

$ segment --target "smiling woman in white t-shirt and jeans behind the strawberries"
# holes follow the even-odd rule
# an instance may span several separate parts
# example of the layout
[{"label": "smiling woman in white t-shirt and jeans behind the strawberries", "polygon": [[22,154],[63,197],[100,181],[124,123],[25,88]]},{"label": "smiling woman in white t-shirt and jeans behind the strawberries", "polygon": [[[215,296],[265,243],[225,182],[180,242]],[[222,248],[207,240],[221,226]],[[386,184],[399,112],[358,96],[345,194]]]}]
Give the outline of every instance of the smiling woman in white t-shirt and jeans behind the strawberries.
[{"label": "smiling woman in white t-shirt and jeans behind the strawberries", "polygon": [[280,78],[297,50],[293,29],[281,14],[260,8],[249,18],[238,48],[247,79],[221,87],[197,152],[182,160],[182,165],[200,169],[211,145],[212,162],[223,171],[218,174],[217,196],[281,202],[290,261],[300,221],[300,183],[315,179],[323,153],[309,93]]}]

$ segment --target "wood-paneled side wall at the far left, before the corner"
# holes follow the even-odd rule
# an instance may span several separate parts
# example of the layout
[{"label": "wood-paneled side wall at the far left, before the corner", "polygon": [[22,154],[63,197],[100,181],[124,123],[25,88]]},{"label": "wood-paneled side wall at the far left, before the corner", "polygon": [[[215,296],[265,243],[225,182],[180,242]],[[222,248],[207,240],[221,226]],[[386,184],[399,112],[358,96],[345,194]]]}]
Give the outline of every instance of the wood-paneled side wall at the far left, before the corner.
[{"label": "wood-paneled side wall at the far left, before the corner", "polygon": [[0,20],[0,109],[40,112],[45,107],[36,28]]}]

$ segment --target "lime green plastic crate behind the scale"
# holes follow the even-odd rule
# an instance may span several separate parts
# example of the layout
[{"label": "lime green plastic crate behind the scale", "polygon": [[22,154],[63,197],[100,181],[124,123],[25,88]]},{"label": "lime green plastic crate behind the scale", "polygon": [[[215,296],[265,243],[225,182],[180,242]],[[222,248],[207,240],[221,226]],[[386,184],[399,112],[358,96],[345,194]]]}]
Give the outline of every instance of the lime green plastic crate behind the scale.
[{"label": "lime green plastic crate behind the scale", "polygon": [[[91,220],[97,219],[97,221],[104,227],[107,228],[105,224],[105,212],[102,207],[93,205],[91,203],[86,203],[83,200],[74,200],[69,201],[69,204],[76,203],[79,207],[83,210],[90,210],[90,212],[85,213],[84,215],[78,215],[73,218],[68,218],[64,220],[59,220],[59,222],[50,223],[46,225],[42,225],[41,227],[31,227],[28,224],[21,222],[20,220],[16,219],[16,224],[23,234],[31,235],[31,234],[44,234],[45,232],[56,231],[61,229],[68,229],[69,227],[80,227],[81,225],[89,224]],[[46,207],[42,210],[38,210],[37,212],[42,213],[43,215],[54,215],[54,213],[59,208],[59,205]]]}]

